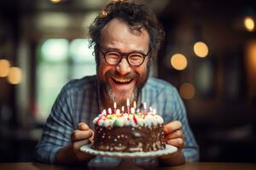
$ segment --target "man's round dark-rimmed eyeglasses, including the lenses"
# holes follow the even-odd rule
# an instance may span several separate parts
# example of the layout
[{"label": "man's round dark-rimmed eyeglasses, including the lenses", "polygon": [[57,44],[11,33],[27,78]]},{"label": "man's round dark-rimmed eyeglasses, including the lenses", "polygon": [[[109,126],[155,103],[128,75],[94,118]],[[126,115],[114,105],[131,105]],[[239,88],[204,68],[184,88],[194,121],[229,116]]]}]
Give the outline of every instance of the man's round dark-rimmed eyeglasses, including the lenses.
[{"label": "man's round dark-rimmed eyeglasses, including the lenses", "polygon": [[132,65],[132,66],[143,65],[145,57],[148,56],[148,54],[150,53],[150,50],[151,48],[149,48],[147,54],[143,54],[140,52],[120,53],[113,50],[102,52],[102,49],[100,48],[100,52],[104,56],[104,59],[108,63],[108,65],[119,65],[123,57],[125,57],[129,65]]}]

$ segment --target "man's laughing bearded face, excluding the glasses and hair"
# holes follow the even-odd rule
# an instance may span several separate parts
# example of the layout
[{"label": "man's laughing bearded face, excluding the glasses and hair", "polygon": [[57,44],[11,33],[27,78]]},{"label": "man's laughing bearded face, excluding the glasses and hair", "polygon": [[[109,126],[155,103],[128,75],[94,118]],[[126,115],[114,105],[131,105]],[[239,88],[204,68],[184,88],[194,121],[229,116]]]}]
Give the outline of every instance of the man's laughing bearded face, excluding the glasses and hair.
[{"label": "man's laughing bearded face, excluding the glasses and hair", "polygon": [[[113,19],[102,29],[100,48],[102,52],[109,50],[119,53],[141,52],[148,53],[149,35],[148,31],[131,30],[122,20]],[[99,65],[97,75],[101,82],[101,88],[105,99],[111,99],[118,105],[125,105],[126,99],[131,102],[137,99],[139,90],[147,81],[149,66],[148,56],[143,65],[131,66],[125,57],[118,65],[108,65],[102,53],[99,53]]]}]

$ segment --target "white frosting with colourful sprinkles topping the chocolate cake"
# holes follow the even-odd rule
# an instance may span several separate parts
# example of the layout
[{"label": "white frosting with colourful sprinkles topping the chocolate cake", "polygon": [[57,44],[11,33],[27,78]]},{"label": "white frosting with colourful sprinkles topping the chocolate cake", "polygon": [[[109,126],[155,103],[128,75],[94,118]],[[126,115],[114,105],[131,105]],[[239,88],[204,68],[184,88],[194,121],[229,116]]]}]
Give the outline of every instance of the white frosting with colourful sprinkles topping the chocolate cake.
[{"label": "white frosting with colourful sprinkles topping the chocolate cake", "polygon": [[108,114],[107,116],[100,114],[93,120],[94,124],[98,124],[101,127],[151,127],[162,124],[163,122],[163,118],[157,115],[155,111],[137,114]]}]

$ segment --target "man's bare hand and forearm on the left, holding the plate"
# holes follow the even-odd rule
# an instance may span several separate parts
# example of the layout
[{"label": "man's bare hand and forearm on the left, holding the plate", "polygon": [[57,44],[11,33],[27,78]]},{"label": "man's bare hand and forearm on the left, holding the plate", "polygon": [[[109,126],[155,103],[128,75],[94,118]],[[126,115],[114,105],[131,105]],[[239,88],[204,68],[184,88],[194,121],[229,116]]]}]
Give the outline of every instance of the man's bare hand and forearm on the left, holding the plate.
[{"label": "man's bare hand and forearm on the left, holding the plate", "polygon": [[94,132],[84,122],[79,123],[77,130],[71,134],[72,144],[61,149],[55,156],[55,161],[61,164],[85,163],[94,156],[82,152],[80,148],[84,144],[93,142]]}]

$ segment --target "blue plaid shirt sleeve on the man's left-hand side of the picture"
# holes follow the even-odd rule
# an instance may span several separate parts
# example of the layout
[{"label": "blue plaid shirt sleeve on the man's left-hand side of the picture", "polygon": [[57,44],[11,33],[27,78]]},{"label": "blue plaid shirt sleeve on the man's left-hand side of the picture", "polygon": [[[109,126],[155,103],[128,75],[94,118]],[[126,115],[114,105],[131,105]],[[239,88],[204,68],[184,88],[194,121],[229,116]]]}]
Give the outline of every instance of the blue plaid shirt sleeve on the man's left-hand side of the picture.
[{"label": "blue plaid shirt sleeve on the man's left-hand side of the picture", "polygon": [[44,125],[42,137],[35,148],[36,160],[55,163],[55,154],[61,148],[71,144],[70,135],[74,129],[71,108],[66,85],[55,100]]}]

